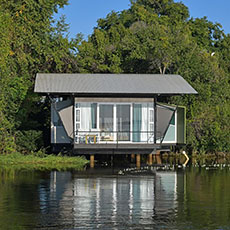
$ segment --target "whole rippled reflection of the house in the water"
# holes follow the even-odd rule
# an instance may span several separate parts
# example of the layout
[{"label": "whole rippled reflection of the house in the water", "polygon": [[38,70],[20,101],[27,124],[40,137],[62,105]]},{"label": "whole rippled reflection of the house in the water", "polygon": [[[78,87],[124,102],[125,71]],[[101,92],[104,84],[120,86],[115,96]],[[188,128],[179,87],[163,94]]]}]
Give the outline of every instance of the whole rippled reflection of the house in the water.
[{"label": "whole rippled reflection of the house in the water", "polygon": [[135,229],[141,225],[144,228],[153,226],[156,220],[159,223],[161,218],[170,221],[175,215],[176,172],[143,177],[65,176],[66,180],[61,173],[56,174],[56,191],[51,183],[50,196],[60,199],[60,216],[67,218],[72,227]]}]

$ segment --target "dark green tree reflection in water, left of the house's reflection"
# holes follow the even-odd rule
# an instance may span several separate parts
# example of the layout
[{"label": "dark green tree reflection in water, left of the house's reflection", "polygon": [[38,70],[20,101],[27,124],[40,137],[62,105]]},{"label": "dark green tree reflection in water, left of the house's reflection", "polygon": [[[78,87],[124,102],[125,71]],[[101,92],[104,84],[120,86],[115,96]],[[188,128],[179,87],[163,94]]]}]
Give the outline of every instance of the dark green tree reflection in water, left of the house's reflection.
[{"label": "dark green tree reflection in water, left of the house's reflection", "polygon": [[43,173],[0,169],[0,229],[31,229],[36,225],[41,178]]}]

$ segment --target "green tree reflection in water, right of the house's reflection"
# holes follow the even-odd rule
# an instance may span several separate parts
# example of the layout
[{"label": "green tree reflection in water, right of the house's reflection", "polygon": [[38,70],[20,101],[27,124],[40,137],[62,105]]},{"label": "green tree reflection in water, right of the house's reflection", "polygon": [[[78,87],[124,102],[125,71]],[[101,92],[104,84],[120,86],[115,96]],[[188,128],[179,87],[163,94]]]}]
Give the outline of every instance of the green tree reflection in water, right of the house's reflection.
[{"label": "green tree reflection in water, right of the house's reflection", "polygon": [[229,169],[186,170],[184,190],[179,193],[178,222],[189,220],[194,229],[229,229],[229,175]]}]

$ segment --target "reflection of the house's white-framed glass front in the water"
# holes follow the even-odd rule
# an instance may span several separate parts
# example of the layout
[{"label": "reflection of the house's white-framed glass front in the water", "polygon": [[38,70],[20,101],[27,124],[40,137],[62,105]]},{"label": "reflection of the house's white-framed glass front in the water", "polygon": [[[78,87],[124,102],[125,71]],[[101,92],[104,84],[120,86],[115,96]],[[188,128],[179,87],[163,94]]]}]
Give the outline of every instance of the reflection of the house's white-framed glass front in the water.
[{"label": "reflection of the house's white-framed glass front in the water", "polygon": [[152,178],[76,178],[74,197],[75,226],[82,225],[83,220],[91,228],[152,222]]}]

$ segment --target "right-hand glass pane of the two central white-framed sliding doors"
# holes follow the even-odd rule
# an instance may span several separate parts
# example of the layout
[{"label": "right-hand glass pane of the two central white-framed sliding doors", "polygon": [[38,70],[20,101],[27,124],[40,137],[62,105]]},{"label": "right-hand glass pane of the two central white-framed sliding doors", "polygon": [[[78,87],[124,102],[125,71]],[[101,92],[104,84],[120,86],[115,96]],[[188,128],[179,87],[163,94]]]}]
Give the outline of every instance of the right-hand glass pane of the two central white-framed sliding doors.
[{"label": "right-hand glass pane of the two central white-framed sliding doors", "polygon": [[130,105],[117,105],[116,114],[118,141],[130,141]]}]

